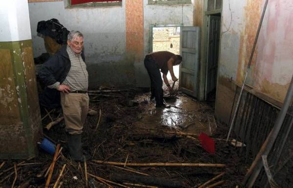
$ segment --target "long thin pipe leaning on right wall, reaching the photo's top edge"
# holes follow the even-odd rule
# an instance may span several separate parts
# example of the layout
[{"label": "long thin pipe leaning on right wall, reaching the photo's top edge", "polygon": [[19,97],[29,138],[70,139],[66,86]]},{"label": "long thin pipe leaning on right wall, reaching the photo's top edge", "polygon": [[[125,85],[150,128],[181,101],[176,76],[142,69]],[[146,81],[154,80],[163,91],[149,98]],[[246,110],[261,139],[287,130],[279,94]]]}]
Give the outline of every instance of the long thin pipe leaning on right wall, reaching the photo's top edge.
[{"label": "long thin pipe leaning on right wall, reaching the photo's top edge", "polygon": [[233,125],[234,125],[235,116],[236,116],[236,113],[237,113],[238,108],[239,108],[241,96],[242,96],[243,89],[244,89],[244,85],[245,85],[245,82],[246,82],[246,79],[247,79],[248,71],[249,71],[250,66],[251,66],[252,57],[253,57],[254,50],[255,50],[255,46],[256,46],[256,42],[257,42],[257,39],[258,39],[258,36],[259,36],[260,28],[261,28],[261,25],[262,25],[262,22],[263,22],[263,19],[264,19],[264,15],[265,15],[265,12],[266,12],[266,9],[267,9],[268,1],[269,0],[266,0],[266,2],[265,2],[264,8],[263,8],[263,12],[262,12],[262,15],[261,15],[259,24],[258,24],[256,36],[254,38],[254,42],[253,42],[253,46],[252,46],[252,50],[251,50],[251,56],[249,58],[249,62],[248,62],[248,65],[247,65],[246,74],[245,74],[245,77],[244,77],[244,80],[243,80],[243,84],[242,84],[242,87],[241,87],[241,91],[240,91],[240,94],[239,94],[238,102],[237,102],[237,105],[236,105],[236,109],[235,109],[235,112],[234,112],[234,115],[233,115],[233,119],[232,119],[232,122],[231,122],[231,125],[230,125],[230,129],[229,129],[229,132],[228,132],[228,136],[227,136],[226,142],[228,142],[228,140],[229,140],[230,133],[231,133],[231,130],[232,130]]}]

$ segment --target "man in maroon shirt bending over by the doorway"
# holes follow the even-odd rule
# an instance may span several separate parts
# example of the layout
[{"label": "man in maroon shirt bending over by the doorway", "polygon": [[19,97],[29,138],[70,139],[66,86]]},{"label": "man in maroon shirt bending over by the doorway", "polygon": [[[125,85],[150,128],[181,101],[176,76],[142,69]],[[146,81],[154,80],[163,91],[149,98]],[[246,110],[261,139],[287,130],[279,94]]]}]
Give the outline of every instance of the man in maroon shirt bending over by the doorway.
[{"label": "man in maroon shirt bending over by the doorway", "polygon": [[174,75],[173,66],[179,65],[181,61],[182,56],[167,51],[153,52],[146,55],[144,63],[150,78],[151,98],[155,97],[156,108],[170,108],[170,106],[164,104],[163,81],[160,70],[163,73],[163,79],[169,92],[172,93],[173,89],[169,84],[167,74],[170,72],[172,80],[177,81],[178,78]]}]

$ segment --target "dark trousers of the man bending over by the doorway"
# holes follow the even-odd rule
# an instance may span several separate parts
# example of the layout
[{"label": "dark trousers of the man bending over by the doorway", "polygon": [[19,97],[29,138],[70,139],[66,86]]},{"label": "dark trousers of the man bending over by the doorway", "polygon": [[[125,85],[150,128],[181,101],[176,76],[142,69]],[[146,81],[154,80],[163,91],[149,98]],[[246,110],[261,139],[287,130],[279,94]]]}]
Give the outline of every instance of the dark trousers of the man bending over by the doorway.
[{"label": "dark trousers of the man bending over by the doorway", "polygon": [[154,61],[151,56],[146,55],[144,62],[145,62],[147,73],[150,78],[151,97],[153,96],[155,97],[156,105],[162,105],[164,92],[162,89],[163,80],[162,80],[160,69],[156,61]]}]

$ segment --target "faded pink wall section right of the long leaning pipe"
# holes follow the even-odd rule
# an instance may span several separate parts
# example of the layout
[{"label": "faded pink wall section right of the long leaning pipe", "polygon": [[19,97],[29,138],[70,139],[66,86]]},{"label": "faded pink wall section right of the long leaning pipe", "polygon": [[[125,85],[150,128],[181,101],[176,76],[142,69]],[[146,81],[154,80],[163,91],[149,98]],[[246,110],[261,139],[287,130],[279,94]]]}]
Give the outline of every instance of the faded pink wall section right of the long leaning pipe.
[{"label": "faded pink wall section right of the long leaning pipe", "polygon": [[269,0],[257,46],[253,86],[283,101],[293,75],[293,0]]}]

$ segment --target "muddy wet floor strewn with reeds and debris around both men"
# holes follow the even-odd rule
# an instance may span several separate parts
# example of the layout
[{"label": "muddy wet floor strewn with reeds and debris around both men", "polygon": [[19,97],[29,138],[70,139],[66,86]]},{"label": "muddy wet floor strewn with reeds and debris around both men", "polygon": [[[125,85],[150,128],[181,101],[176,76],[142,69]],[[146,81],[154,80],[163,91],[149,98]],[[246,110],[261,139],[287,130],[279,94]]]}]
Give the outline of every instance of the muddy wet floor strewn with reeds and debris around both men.
[{"label": "muddy wet floor strewn with reeds and debris around both men", "polygon": [[[149,93],[137,88],[97,88],[89,94],[90,108],[98,114],[87,117],[83,143],[92,159],[70,160],[63,121],[44,129],[42,136],[63,148],[49,187],[199,187],[216,176],[207,185],[240,186],[247,167],[238,150],[245,148],[226,143],[228,128],[215,120],[212,104],[178,92],[165,96],[171,108],[156,109]],[[51,113],[53,119],[61,116],[58,110]],[[44,118],[43,126],[50,121]],[[214,140],[214,154],[203,149],[202,132]],[[52,161],[42,149],[32,159],[0,161],[0,185],[45,187]]]}]

